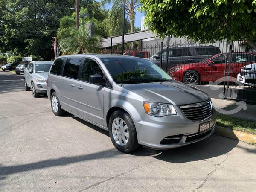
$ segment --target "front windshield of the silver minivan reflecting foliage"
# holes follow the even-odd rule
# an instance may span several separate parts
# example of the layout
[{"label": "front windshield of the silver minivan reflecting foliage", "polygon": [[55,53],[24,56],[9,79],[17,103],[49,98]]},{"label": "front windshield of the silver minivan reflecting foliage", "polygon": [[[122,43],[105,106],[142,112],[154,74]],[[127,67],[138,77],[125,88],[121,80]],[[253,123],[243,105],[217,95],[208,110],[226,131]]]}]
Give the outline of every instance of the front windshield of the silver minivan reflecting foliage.
[{"label": "front windshield of the silver minivan reflecting foliage", "polygon": [[160,67],[140,58],[101,58],[118,84],[172,81]]}]

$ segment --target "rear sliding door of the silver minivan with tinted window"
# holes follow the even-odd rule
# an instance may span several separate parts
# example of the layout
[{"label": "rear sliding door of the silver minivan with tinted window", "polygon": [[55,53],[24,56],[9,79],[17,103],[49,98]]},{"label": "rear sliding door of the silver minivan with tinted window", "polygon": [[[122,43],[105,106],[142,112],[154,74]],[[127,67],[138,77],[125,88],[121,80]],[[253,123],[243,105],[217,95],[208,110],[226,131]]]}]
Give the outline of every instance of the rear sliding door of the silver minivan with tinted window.
[{"label": "rear sliding door of the silver minivan with tinted window", "polygon": [[63,76],[58,78],[61,107],[75,115],[78,114],[76,94],[81,60],[82,58],[67,58],[63,69]]}]

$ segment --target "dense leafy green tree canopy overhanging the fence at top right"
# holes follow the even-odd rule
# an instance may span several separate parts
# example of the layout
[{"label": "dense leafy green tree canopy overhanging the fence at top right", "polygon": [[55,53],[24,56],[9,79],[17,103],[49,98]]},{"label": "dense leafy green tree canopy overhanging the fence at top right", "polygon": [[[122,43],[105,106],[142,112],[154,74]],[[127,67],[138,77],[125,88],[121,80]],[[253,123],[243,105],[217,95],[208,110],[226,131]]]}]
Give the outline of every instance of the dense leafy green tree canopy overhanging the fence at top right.
[{"label": "dense leafy green tree canopy overhanging the fence at top right", "polygon": [[247,40],[256,49],[256,0],[140,0],[145,24],[162,37]]}]

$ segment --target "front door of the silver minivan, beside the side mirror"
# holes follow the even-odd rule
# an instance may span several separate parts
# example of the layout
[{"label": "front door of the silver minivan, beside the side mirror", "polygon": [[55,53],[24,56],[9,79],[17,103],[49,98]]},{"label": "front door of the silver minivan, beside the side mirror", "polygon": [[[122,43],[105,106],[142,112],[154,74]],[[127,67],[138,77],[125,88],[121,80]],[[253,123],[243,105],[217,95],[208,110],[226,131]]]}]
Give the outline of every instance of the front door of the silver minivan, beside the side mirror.
[{"label": "front door of the silver minivan, beside the side mirror", "polygon": [[79,116],[103,125],[103,97],[105,87],[89,83],[89,76],[103,72],[99,64],[90,58],[86,58],[81,72],[79,83],[77,84],[77,108]]}]

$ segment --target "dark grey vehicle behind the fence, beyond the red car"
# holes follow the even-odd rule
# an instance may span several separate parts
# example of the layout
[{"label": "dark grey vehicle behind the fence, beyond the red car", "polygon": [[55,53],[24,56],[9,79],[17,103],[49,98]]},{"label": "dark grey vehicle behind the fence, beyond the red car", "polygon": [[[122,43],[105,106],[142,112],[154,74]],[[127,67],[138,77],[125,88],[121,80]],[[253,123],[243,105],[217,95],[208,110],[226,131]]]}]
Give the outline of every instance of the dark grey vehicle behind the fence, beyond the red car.
[{"label": "dark grey vehicle behind the fence, beyond the red car", "polygon": [[[206,58],[221,53],[219,47],[214,46],[187,46],[187,47],[171,47],[168,53],[167,69],[171,69],[177,64],[187,64],[200,62]],[[166,66],[167,49],[162,52],[162,68]],[[154,64],[161,66],[161,51],[147,58]]]}]

